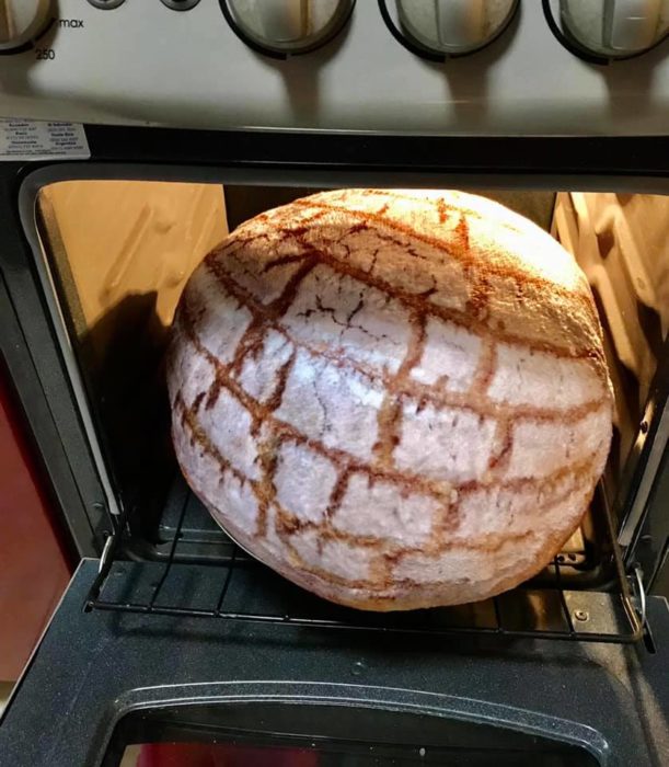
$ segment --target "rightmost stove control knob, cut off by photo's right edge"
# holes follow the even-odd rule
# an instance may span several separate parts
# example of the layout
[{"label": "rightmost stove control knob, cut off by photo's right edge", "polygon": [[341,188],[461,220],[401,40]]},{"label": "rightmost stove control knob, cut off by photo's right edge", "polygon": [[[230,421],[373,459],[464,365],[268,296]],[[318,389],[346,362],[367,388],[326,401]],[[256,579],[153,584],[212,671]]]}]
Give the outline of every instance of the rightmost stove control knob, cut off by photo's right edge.
[{"label": "rightmost stove control knob, cut off by photo's right edge", "polygon": [[561,0],[560,9],[565,32],[607,58],[643,53],[669,33],[669,0]]}]

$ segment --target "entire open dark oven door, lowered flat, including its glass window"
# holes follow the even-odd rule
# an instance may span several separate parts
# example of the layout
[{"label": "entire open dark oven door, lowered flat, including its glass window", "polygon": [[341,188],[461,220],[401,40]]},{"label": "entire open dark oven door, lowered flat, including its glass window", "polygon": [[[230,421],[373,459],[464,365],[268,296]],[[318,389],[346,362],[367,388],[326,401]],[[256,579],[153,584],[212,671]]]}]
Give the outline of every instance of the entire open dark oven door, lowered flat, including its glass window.
[{"label": "entire open dark oven door, lowered flat, including its glass window", "polygon": [[[137,568],[141,579],[148,565]],[[194,593],[207,570],[174,565],[170,579]],[[86,609],[97,574],[97,561],[81,563],[35,651],[0,725],[0,764],[659,767],[669,758],[669,610],[657,597],[647,604],[649,652]]]}]

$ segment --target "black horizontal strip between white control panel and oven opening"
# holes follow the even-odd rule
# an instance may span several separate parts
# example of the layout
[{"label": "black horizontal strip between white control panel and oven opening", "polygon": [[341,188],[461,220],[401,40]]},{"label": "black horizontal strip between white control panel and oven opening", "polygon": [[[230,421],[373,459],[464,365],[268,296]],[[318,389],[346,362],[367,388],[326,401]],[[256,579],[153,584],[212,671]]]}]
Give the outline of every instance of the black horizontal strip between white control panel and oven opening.
[{"label": "black horizontal strip between white control panel and oven opening", "polygon": [[265,168],[278,172],[669,176],[669,136],[408,136],[125,126],[88,126],[86,136],[91,161],[102,162]]}]

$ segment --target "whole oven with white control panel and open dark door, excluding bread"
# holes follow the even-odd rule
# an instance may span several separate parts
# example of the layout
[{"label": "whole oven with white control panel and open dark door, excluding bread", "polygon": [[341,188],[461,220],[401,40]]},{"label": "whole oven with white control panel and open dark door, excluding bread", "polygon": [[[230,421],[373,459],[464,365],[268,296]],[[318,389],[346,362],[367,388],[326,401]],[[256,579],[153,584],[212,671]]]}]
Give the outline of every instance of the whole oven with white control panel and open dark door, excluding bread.
[{"label": "whole oven with white control panel and open dark door, excluding bread", "polygon": [[[669,10],[651,34],[615,4],[595,45],[568,2],[493,3],[485,34],[478,2],[0,2],[0,352],[81,558],[0,764],[667,763]],[[252,216],[353,186],[496,199],[593,291],[605,472],[552,563],[485,602],[319,599],[176,466],[189,274]]]}]

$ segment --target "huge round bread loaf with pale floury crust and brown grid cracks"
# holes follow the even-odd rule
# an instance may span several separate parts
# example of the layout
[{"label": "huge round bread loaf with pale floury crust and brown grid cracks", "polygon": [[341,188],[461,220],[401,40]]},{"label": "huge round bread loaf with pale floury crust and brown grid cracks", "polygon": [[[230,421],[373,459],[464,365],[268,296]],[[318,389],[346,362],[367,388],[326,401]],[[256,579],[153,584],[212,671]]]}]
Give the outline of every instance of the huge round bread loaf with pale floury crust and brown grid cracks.
[{"label": "huge round bread loaf with pale floury crust and brown grid cracks", "polygon": [[168,375],[176,456],[216,520],[364,609],[540,571],[611,438],[584,274],[459,192],[327,192],[246,221],[191,277]]}]

